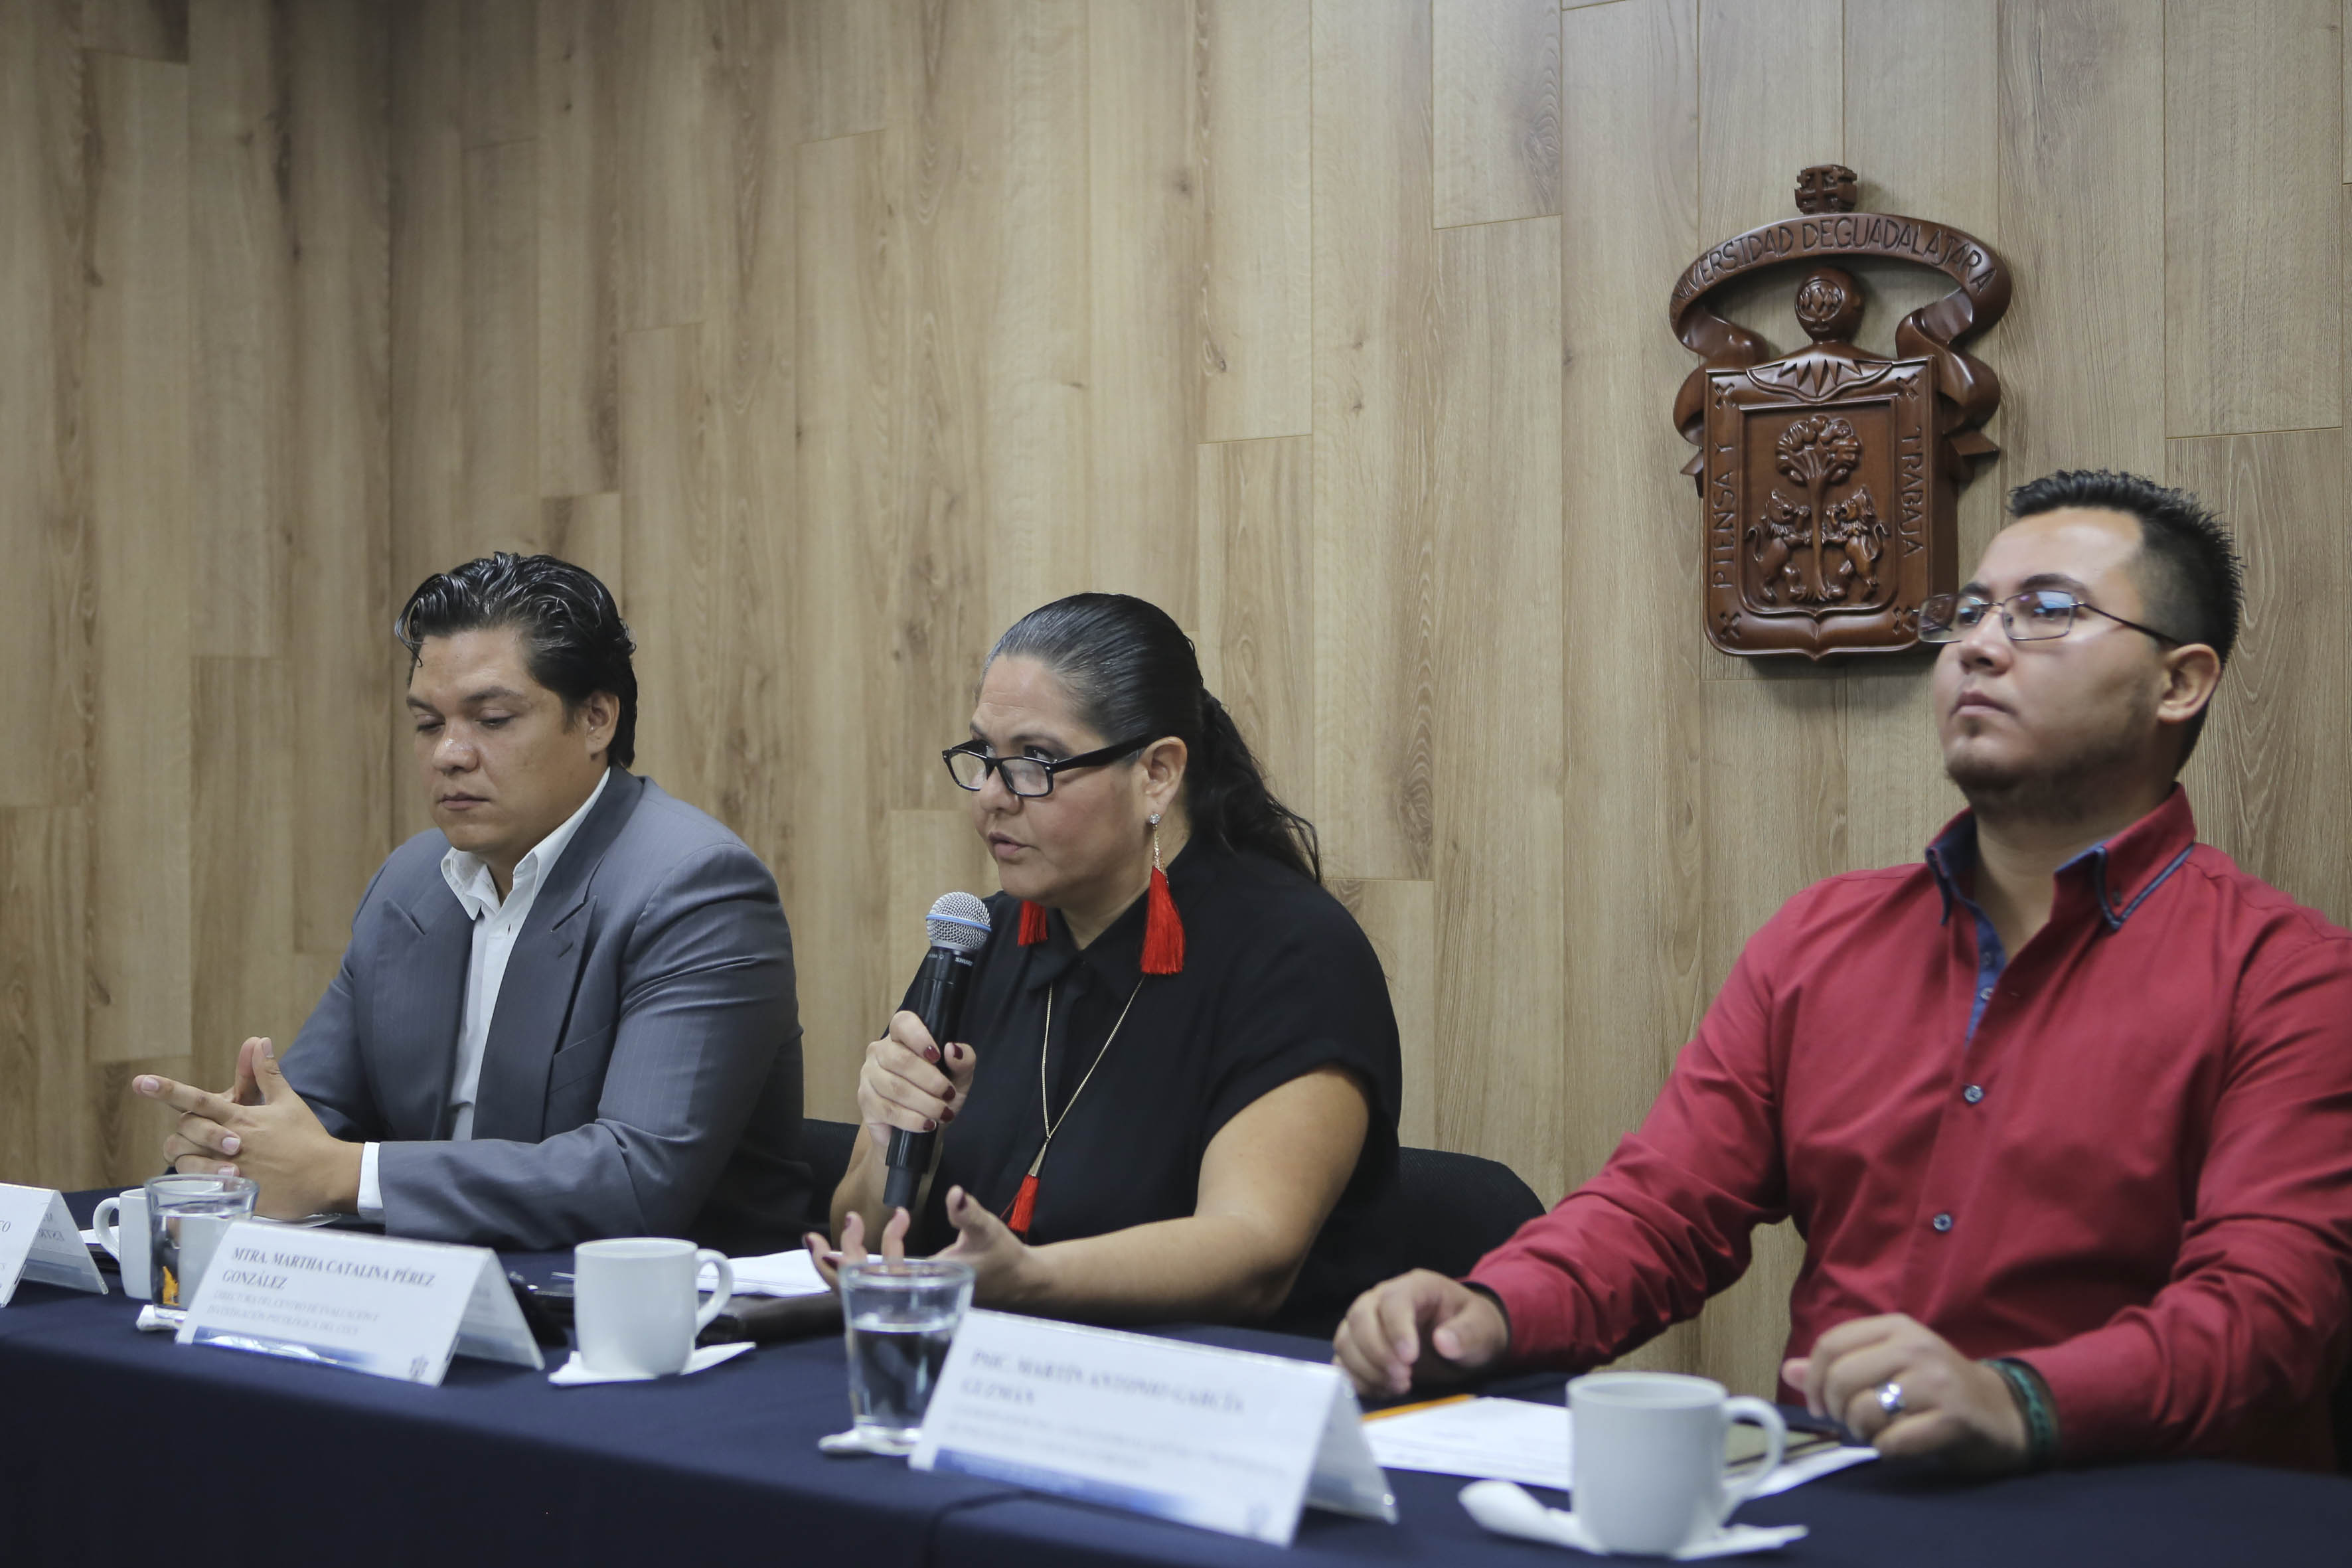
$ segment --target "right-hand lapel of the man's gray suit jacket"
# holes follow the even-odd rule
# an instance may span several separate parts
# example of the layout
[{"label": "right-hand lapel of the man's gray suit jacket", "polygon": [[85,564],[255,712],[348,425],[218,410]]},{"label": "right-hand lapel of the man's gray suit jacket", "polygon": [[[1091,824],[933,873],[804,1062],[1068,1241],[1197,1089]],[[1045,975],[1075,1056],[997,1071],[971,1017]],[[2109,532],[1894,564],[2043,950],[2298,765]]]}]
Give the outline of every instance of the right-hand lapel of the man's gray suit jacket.
[{"label": "right-hand lapel of the man's gray suit jacket", "polygon": [[532,917],[522,922],[482,1046],[482,1079],[473,1095],[475,1138],[539,1143],[546,1135],[548,1063],[572,1020],[572,992],[588,959],[595,872],[642,792],[642,778],[614,771],[604,799],[564,846],[555,875],[532,903]]}]

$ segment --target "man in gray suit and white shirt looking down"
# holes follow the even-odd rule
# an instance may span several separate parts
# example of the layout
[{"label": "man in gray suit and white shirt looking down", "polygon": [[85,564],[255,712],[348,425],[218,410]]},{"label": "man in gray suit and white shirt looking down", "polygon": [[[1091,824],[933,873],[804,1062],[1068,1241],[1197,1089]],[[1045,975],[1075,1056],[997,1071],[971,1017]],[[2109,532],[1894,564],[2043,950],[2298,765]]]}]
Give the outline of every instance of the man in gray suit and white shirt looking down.
[{"label": "man in gray suit and white shirt looking down", "polygon": [[809,1208],[793,943],[776,882],[635,752],[633,642],[590,574],[492,555],[397,621],[435,832],[376,872],[280,1070],[160,1077],[179,1171],[259,1211],[557,1248],[682,1234],[788,1246]]}]

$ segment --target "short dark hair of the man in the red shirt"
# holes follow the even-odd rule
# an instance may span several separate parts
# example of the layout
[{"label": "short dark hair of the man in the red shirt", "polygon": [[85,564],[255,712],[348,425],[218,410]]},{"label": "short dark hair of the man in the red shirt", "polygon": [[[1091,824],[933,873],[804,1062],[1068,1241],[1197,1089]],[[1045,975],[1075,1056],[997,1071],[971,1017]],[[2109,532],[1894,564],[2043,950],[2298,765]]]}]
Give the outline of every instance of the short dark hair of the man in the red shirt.
[{"label": "short dark hair of the man in the red shirt", "polygon": [[[2009,515],[2020,522],[2077,505],[2138,520],[2133,576],[2145,599],[2143,618],[2180,642],[2211,646],[2227,665],[2246,604],[2246,569],[2220,517],[2185,489],[2112,468],[2060,468],[2009,491]],[[2197,750],[2204,722],[2204,712],[2190,719],[2180,762]]]}]

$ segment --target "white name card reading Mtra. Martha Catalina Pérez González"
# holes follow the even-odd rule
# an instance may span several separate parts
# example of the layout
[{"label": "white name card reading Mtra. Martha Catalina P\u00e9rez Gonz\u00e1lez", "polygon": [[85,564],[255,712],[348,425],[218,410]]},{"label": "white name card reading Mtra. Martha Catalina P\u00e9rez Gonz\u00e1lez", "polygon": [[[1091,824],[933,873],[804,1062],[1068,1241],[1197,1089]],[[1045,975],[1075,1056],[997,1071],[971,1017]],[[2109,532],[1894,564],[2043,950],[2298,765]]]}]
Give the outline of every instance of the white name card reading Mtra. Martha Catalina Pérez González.
[{"label": "white name card reading Mtra. Martha Catalina P\u00e9rez Gonz\u00e1lez", "polygon": [[487,1246],[252,1220],[221,1237],[179,1342],[430,1385],[456,1354],[546,1371]]}]

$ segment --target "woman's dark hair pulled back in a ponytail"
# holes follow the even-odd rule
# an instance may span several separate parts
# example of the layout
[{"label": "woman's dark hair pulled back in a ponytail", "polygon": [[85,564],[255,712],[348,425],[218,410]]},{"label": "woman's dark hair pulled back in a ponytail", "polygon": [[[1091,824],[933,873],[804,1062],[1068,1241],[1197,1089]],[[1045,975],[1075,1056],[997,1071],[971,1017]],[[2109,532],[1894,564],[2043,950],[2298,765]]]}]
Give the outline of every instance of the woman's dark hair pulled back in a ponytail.
[{"label": "woman's dark hair pulled back in a ponytail", "polygon": [[1265,788],[1242,729],[1200,682],[1192,639],[1164,609],[1124,592],[1077,592],[1014,621],[988,663],[1002,656],[1051,670],[1077,717],[1105,741],[1143,733],[1183,741],[1192,832],[1322,882],[1315,823]]}]

